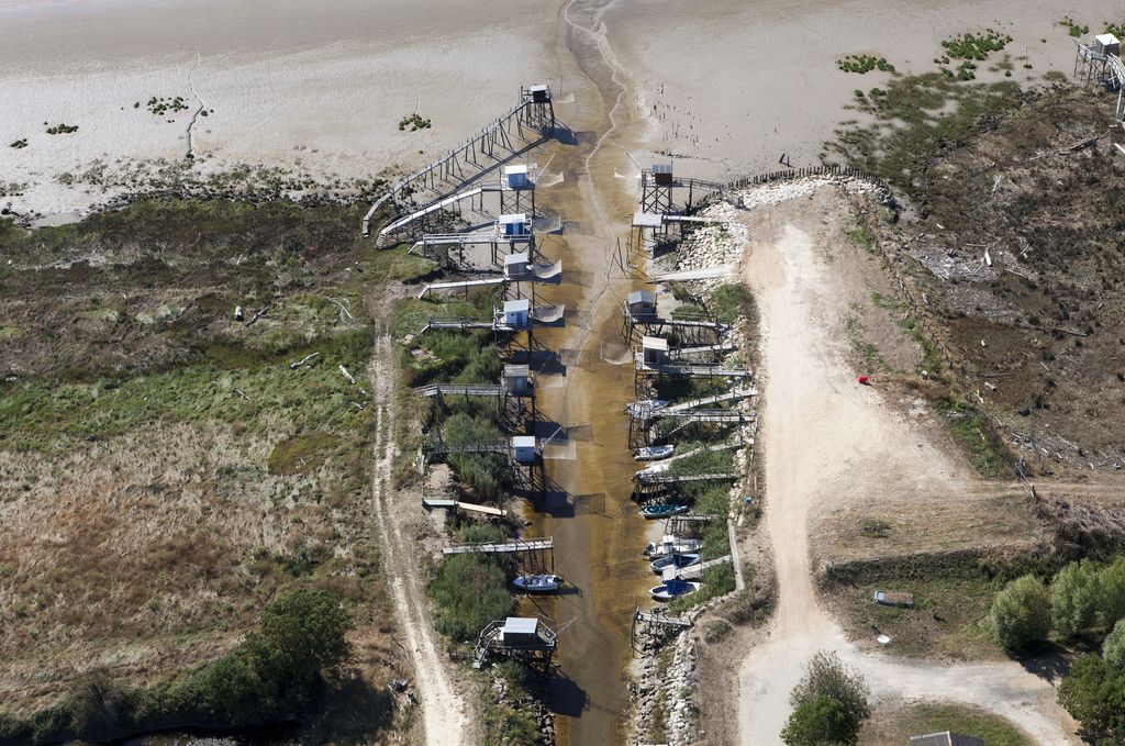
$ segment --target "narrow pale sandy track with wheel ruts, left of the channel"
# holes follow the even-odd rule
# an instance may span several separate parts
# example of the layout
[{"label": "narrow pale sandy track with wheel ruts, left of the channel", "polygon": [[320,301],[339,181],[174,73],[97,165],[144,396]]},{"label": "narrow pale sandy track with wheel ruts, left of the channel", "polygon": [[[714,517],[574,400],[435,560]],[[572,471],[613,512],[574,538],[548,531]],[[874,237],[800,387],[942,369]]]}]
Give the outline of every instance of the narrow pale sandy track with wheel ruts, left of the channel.
[{"label": "narrow pale sandy track with wheel ruts, left of the channel", "polygon": [[468,722],[465,701],[453,687],[434,640],[425,588],[417,573],[417,545],[404,536],[402,527],[403,519],[417,511],[417,495],[390,488],[397,450],[393,424],[397,375],[394,359],[390,336],[380,334],[368,368],[374,381],[376,407],[371,484],[375,528],[382,545],[382,572],[394,594],[394,606],[414,665],[414,685],[422,705],[425,743],[428,746],[459,746],[465,743],[462,731]]}]

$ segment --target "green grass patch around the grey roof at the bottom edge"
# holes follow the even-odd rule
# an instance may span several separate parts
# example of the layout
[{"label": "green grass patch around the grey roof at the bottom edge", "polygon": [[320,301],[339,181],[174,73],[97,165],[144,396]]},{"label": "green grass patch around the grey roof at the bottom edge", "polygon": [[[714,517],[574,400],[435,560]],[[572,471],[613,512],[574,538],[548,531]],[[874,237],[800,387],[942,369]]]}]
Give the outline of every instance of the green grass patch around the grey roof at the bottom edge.
[{"label": "green grass patch around the grey roof at the bottom edge", "polygon": [[1034,741],[1012,723],[968,704],[911,704],[883,719],[867,722],[860,730],[860,746],[908,744],[911,736],[930,732],[953,732],[975,736],[988,746],[1033,746]]}]

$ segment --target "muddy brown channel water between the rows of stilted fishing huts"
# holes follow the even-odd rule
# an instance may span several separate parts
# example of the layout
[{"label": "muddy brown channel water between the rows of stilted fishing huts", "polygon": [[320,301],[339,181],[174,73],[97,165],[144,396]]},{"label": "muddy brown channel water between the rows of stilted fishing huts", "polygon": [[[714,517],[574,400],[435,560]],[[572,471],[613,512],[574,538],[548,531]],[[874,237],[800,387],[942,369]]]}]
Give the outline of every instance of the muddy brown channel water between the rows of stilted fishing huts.
[{"label": "muddy brown channel water between the rows of stilted fishing huts", "polygon": [[550,449],[546,470],[555,491],[530,516],[529,533],[554,537],[557,570],[574,592],[528,611],[566,626],[551,705],[559,743],[574,745],[626,743],[629,629],[652,577],[640,558],[648,527],[630,500],[637,465],[622,413],[632,399],[633,367],[622,354],[621,300],[640,285],[615,259],[637,204],[636,179],[616,174],[636,173],[627,152],[644,140],[647,123],[604,36],[604,5],[576,1],[560,11],[557,55],[566,87],[557,114],[575,142],[543,154],[564,179],[537,198],[565,221],[562,233],[540,246],[562,261],[562,284],[537,290],[537,303],[567,309],[565,327],[534,331],[537,347],[566,366],[562,375],[538,379],[537,406],[543,431],[564,425],[568,437]]}]

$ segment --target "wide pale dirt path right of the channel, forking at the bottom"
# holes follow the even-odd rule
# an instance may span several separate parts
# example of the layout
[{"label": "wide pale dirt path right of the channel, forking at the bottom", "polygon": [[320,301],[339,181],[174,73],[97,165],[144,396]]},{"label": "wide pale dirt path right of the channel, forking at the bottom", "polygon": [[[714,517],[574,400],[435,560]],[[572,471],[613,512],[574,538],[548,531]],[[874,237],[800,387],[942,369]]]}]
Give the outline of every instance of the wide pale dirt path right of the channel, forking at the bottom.
[{"label": "wide pale dirt path right of the channel, forking at the bottom", "polygon": [[[780,586],[770,639],[741,668],[741,743],[781,743],[790,690],[819,649],[836,650],[860,668],[875,698],[972,703],[1018,722],[1038,744],[1077,743],[1050,682],[1017,664],[940,666],[864,654],[817,601],[810,513],[828,501],[845,504],[873,492],[956,500],[971,485],[924,432],[884,406],[875,390],[856,385],[839,341],[839,302],[831,267],[817,245],[822,223],[813,205],[801,198],[757,208],[755,239],[741,268],[762,318],[765,520]],[[762,210],[768,210],[764,222]]]}]

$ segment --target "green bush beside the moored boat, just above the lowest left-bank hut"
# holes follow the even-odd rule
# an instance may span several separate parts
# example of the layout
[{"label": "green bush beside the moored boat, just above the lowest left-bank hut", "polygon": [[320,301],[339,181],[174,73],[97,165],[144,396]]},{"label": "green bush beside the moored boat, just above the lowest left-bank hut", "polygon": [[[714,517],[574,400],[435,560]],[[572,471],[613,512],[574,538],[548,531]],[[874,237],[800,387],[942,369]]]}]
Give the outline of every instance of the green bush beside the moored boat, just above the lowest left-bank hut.
[{"label": "green bush beside the moored boat, just above the lowest left-bank hut", "polygon": [[452,555],[429,590],[438,604],[438,631],[459,642],[474,639],[488,622],[512,610],[507,577],[483,554]]}]

